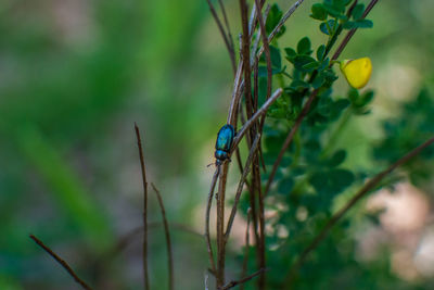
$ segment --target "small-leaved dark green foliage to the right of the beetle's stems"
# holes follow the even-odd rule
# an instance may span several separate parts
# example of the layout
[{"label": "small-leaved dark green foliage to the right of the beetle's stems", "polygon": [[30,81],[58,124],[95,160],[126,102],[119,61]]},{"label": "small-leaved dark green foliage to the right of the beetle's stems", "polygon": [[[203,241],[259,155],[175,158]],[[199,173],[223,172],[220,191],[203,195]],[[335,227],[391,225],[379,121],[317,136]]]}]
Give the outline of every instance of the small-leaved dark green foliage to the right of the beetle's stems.
[{"label": "small-leaved dark green foliage to the right of the beetle's stems", "polygon": [[[368,168],[348,166],[346,159],[350,148],[335,148],[335,141],[348,119],[368,115],[374,98],[372,90],[350,88],[345,97],[335,92],[339,74],[329,53],[337,37],[345,29],[373,26],[371,21],[362,18],[365,4],[358,3],[352,8],[352,13],[348,12],[353,3],[352,0],[324,0],[312,4],[310,17],[320,22],[319,33],[328,36],[324,43],[312,47],[312,41],[306,36],[295,47],[285,47],[281,51],[282,58],[276,55],[280,52],[276,43],[271,49],[273,79],[284,85],[284,94],[268,111],[270,121],[264,129],[264,182],[306,99],[318,90],[307,117],[284,152],[269,192],[272,204],[267,206],[276,211],[277,216],[269,222],[273,234],[267,236],[267,244],[271,244],[273,250],[268,252],[268,263],[270,267],[280,269],[279,275],[271,273],[268,278],[271,289],[282,289],[282,273],[332,216],[335,201],[345,200],[346,192],[354,192],[356,186],[373,175]],[[276,5],[272,10],[280,11]],[[261,61],[265,62],[264,59]],[[376,147],[376,160],[391,163],[433,133],[434,105],[426,90],[421,91],[416,102],[405,105],[403,115],[408,118],[385,123],[387,138]],[[412,166],[414,175],[420,177],[423,176],[422,171],[429,172],[427,167],[414,169],[416,164],[420,166],[423,163],[432,171],[433,166],[422,160],[433,156],[434,150],[427,150],[411,163],[409,166]],[[382,186],[396,180],[391,178]],[[245,210],[248,207],[246,201],[243,206]],[[379,215],[380,212],[362,214],[361,220],[379,225]],[[302,267],[293,288],[331,289],[344,286],[344,289],[381,289],[378,286],[380,275],[383,275],[381,280],[387,281],[386,285],[399,285],[396,277],[387,274],[387,255],[371,264],[356,261],[355,239],[350,236],[353,222],[352,218],[345,219],[332,230]],[[283,228],[289,238],[279,235]],[[374,273],[371,268],[385,274]]]}]

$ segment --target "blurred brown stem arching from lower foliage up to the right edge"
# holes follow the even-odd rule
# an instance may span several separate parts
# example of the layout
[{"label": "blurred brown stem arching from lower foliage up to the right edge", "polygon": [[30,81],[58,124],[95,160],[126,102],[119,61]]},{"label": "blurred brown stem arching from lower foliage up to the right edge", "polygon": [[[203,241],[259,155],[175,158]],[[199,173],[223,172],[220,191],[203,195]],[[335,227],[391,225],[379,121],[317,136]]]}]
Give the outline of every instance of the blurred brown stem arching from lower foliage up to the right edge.
[{"label": "blurred brown stem arching from lower foliage up to the right edge", "polygon": [[379,173],[375,175],[372,179],[370,179],[368,182],[365,184],[365,186],[340,210],[337,211],[326,224],[326,226],[321,229],[321,231],[314,238],[314,240],[309,243],[309,245],[306,247],[306,249],[302,252],[297,261],[294,263],[294,265],[290,268],[289,275],[288,275],[288,285],[292,281],[294,278],[294,275],[296,270],[302,266],[302,264],[306,261],[308,254],[314,251],[318,244],[327,237],[329,234],[330,229],[360,200],[362,199],[367,193],[371,192],[380,182],[383,180],[384,177],[386,177],[388,174],[391,174],[393,171],[395,171],[397,167],[401,166],[403,164],[409,162],[411,159],[417,156],[422,150],[427,148],[434,143],[434,137],[430,138],[419,147],[414,148],[410,152],[408,152],[406,155],[397,160],[394,164],[388,166],[385,171]]}]

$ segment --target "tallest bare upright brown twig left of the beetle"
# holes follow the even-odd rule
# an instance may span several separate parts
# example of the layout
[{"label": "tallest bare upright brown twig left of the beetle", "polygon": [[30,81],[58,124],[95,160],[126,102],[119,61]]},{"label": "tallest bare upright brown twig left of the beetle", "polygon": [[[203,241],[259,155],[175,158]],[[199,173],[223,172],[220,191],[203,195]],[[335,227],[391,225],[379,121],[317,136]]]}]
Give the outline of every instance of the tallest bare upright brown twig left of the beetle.
[{"label": "tallest bare upright brown twig left of the beetle", "polygon": [[148,181],[146,181],[146,167],[144,166],[144,156],[142,141],[140,138],[140,130],[135,123],[137,146],[139,148],[140,167],[142,172],[142,184],[143,184],[143,243],[142,243],[142,254],[143,254],[143,286],[145,290],[150,289],[149,283],[149,269],[148,269]]}]

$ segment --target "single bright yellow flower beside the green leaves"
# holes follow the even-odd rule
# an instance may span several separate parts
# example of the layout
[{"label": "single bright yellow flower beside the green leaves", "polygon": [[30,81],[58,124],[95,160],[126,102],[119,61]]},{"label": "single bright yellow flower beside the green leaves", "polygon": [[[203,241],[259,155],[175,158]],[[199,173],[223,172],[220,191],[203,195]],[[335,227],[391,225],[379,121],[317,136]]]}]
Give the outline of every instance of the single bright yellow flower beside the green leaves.
[{"label": "single bright yellow flower beside the green leaves", "polygon": [[371,77],[372,63],[369,58],[345,60],[341,62],[341,72],[344,74],[349,86],[361,89],[368,84]]}]

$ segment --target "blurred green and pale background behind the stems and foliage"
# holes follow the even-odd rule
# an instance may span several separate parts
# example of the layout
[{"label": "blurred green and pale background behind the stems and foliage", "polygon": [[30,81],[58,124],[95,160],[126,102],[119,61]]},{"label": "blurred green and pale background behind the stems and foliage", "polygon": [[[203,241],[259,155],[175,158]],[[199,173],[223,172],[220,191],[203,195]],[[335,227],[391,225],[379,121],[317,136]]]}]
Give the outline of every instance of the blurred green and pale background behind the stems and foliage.
[{"label": "blurred green and pale background behind the stems and foliage", "polygon": [[[285,10],[293,1],[278,2]],[[281,47],[306,35],[314,46],[326,40],[308,17],[314,2],[305,1],[286,24]],[[237,35],[238,1],[225,3]],[[376,92],[372,113],[352,119],[340,140],[348,148],[348,166],[387,164],[372,153],[387,137],[385,119],[433,119],[433,109],[426,108],[434,101],[433,11],[432,0],[379,1],[370,14],[374,27],[358,31],[344,51],[344,59],[372,59],[368,88]],[[77,289],[29,234],[100,289],[141,288],[140,235],[113,251],[141,225],[135,122],[149,181],[161,190],[168,218],[188,226],[173,228],[176,288],[203,289],[206,249],[191,231],[203,231],[213,174],[206,165],[213,162],[231,87],[228,53],[204,0],[2,0],[0,289]],[[422,88],[426,110],[405,111],[403,103]],[[340,80],[339,91],[346,90]],[[395,193],[383,190],[361,205],[383,210],[376,224],[354,228],[359,241],[354,260],[385,261],[384,267],[371,268],[379,285],[393,279],[399,289],[433,286],[434,174],[424,174],[418,187],[403,181]],[[166,289],[164,234],[152,194],[151,282]],[[233,251],[241,249],[237,237],[243,230],[234,232]]]}]

